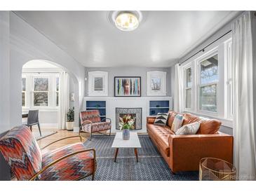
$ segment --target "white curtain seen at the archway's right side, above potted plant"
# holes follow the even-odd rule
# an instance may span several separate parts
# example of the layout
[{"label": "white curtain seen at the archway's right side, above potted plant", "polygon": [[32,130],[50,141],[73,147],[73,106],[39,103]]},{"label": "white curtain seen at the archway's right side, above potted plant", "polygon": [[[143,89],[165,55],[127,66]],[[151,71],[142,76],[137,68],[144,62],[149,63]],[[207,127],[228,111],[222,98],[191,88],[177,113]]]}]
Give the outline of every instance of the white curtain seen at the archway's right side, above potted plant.
[{"label": "white curtain seen at the archway's right side, above potted plant", "polygon": [[60,72],[58,127],[66,128],[66,114],[69,110],[69,74]]}]

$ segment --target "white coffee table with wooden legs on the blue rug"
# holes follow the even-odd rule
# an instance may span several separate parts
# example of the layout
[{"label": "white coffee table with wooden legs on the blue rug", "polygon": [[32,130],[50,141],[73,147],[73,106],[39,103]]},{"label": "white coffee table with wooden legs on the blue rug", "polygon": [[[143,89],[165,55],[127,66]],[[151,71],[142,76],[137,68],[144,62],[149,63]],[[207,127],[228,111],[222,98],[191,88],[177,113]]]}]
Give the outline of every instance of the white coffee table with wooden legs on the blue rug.
[{"label": "white coffee table with wooden legs on the blue rug", "polygon": [[130,139],[123,140],[123,133],[116,132],[116,136],[114,137],[114,142],[112,144],[112,148],[116,148],[114,155],[114,162],[116,162],[117,153],[119,153],[119,148],[134,148],[135,156],[137,162],[139,162],[139,158],[137,156],[137,148],[141,148],[140,139],[137,137],[137,132],[130,132]]}]

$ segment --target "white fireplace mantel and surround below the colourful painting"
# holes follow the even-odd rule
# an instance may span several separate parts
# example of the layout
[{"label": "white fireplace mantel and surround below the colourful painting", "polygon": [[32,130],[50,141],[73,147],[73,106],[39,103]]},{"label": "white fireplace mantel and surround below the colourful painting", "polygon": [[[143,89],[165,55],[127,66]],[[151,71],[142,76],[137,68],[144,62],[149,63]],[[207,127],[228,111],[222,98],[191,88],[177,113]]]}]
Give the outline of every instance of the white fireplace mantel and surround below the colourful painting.
[{"label": "white fireplace mantel and surround below the colourful painting", "polygon": [[86,110],[86,101],[106,101],[106,116],[112,119],[112,132],[119,132],[116,130],[116,108],[142,108],[142,129],[135,132],[147,132],[149,101],[157,100],[169,100],[170,109],[173,109],[173,97],[83,97],[83,110]]}]

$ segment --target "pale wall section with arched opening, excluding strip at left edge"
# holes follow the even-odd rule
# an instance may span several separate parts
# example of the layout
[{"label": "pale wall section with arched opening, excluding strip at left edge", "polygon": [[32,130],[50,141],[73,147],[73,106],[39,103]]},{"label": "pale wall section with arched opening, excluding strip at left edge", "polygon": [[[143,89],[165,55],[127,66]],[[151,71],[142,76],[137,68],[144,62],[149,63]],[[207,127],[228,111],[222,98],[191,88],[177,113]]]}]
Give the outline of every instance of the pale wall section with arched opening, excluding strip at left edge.
[{"label": "pale wall section with arched opening, excluding strip at left edge", "polygon": [[54,62],[58,67],[69,73],[75,84],[75,126],[78,126],[79,109],[84,93],[84,67],[12,12],[10,12],[10,33],[11,126],[21,123],[20,79],[22,65],[29,60]]}]

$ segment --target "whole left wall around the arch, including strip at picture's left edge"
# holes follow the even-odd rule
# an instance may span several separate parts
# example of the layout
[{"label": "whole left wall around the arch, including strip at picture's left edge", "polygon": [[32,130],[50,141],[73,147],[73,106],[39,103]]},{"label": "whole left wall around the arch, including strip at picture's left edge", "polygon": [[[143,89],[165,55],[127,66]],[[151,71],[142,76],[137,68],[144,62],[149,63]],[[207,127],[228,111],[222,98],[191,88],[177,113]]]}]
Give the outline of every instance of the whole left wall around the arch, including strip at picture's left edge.
[{"label": "whole left wall around the arch, including strip at picture's left edge", "polygon": [[[20,82],[22,65],[29,60],[55,62],[73,78],[75,125],[78,126],[84,96],[84,67],[14,13],[0,11],[0,135],[22,123]],[[0,170],[0,180],[10,179],[2,156]]]}]

